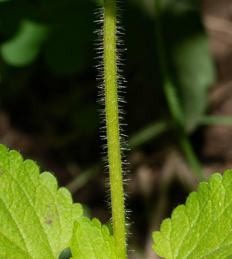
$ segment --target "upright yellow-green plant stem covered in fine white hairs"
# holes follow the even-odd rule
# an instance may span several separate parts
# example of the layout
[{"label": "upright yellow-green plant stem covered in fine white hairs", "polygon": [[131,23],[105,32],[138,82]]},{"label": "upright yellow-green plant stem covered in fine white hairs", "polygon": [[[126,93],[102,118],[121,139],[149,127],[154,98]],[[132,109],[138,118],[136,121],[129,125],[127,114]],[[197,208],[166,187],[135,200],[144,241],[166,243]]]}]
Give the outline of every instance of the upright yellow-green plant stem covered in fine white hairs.
[{"label": "upright yellow-green plant stem covered in fine white hairs", "polygon": [[104,87],[113,236],[115,245],[119,248],[119,258],[125,259],[126,234],[119,141],[116,54],[116,0],[104,0]]}]

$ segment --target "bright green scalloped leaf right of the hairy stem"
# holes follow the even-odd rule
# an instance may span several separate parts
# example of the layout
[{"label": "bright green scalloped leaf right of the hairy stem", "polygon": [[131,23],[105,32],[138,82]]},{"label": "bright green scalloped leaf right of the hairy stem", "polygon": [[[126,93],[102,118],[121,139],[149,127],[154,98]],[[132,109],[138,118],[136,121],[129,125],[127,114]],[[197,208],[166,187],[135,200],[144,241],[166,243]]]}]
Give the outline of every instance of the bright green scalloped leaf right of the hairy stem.
[{"label": "bright green scalloped leaf right of the hairy stem", "polygon": [[155,252],[166,259],[225,259],[232,255],[232,170],[213,174],[186,205],[153,232]]}]

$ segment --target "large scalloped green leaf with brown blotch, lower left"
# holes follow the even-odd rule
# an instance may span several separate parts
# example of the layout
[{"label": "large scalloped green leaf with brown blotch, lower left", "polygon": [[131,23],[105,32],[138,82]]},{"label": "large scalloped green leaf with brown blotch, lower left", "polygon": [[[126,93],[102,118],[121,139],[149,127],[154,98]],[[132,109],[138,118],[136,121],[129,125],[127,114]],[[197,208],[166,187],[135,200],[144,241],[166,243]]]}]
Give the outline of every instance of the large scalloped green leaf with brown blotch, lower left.
[{"label": "large scalloped green leaf with brown blotch, lower left", "polygon": [[58,258],[81,215],[52,174],[0,145],[0,258]]}]

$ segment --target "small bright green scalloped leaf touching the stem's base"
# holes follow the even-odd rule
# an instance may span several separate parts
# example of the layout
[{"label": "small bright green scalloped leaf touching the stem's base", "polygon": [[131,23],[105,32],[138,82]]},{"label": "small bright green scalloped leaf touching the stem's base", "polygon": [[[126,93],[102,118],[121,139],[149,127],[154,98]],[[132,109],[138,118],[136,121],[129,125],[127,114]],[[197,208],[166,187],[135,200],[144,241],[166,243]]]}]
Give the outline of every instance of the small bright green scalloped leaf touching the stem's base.
[{"label": "small bright green scalloped leaf touching the stem's base", "polygon": [[74,222],[71,246],[73,259],[116,259],[118,249],[106,226],[97,219],[82,217]]}]

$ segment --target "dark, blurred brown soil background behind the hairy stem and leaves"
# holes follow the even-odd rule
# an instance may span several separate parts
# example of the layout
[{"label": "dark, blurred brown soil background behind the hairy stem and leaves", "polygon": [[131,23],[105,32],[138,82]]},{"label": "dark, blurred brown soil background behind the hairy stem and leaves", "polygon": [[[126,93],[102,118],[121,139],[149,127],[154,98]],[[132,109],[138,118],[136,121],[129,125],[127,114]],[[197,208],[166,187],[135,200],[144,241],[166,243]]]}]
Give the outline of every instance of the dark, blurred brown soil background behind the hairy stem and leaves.
[{"label": "dark, blurred brown soil background behind the hairy stem and leaves", "polygon": [[[204,113],[232,116],[232,2],[161,2],[165,50],[173,78],[172,44],[183,35],[205,33],[215,80],[207,90]],[[150,123],[172,120],[172,116],[157,58],[154,2],[126,0],[123,9],[123,47],[127,49],[122,57],[122,75],[127,80],[124,133],[130,141]],[[74,202],[84,205],[86,215],[107,224],[111,216],[106,202],[108,174],[101,154],[104,141],[99,133],[99,110],[103,107],[96,101],[97,35],[93,31],[99,25],[93,22],[97,19],[95,10],[96,3],[89,0],[0,3],[0,143],[19,150],[24,159],[36,161],[41,172],[52,172],[59,186],[71,191]],[[49,33],[30,62],[16,64],[13,51],[8,53],[12,55],[10,62],[3,46],[15,37],[20,22],[25,20],[46,24]],[[23,46],[26,48],[26,43]],[[232,168],[230,126],[199,124],[188,135],[206,179],[214,172],[223,174]],[[151,248],[152,231],[159,230],[173,208],[197,190],[199,180],[186,161],[174,129],[125,153],[129,168],[125,179],[130,179],[125,193],[131,210],[128,257],[158,258]]]}]

